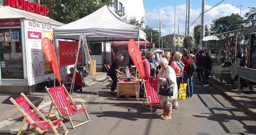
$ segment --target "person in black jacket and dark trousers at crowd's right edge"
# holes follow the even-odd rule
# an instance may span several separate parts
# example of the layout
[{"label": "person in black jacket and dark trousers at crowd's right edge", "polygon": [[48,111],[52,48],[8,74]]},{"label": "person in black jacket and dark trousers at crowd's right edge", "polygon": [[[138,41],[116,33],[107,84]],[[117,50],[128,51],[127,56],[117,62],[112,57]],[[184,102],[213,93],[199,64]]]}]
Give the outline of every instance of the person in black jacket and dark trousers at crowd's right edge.
[{"label": "person in black jacket and dark trousers at crowd's right edge", "polygon": [[209,53],[206,51],[204,53],[204,87],[209,86],[208,78],[211,73],[212,63],[211,63],[211,57],[209,56]]}]

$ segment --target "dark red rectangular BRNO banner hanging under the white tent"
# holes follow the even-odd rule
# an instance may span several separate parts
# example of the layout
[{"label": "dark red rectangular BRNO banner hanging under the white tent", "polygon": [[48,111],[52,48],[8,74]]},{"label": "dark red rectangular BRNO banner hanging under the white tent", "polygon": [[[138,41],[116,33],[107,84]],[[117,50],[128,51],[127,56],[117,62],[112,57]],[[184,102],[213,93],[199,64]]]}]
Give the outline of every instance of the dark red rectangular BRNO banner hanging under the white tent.
[{"label": "dark red rectangular BRNO banner hanging under the white tent", "polygon": [[[59,67],[76,64],[78,42],[59,41]],[[77,64],[81,63],[80,53]]]}]

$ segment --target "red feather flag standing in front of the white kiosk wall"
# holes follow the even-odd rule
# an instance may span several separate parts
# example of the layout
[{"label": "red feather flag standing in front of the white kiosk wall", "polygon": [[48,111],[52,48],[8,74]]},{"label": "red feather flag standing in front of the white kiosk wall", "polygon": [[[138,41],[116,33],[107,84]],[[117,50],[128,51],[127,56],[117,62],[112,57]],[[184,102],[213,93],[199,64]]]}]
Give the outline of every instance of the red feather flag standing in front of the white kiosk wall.
[{"label": "red feather flag standing in front of the white kiosk wall", "polygon": [[43,53],[45,54],[45,57],[47,58],[47,61],[50,63],[54,74],[56,75],[60,83],[59,67],[58,67],[56,52],[52,45],[52,42],[47,37],[44,37],[42,40],[42,50],[43,50]]}]

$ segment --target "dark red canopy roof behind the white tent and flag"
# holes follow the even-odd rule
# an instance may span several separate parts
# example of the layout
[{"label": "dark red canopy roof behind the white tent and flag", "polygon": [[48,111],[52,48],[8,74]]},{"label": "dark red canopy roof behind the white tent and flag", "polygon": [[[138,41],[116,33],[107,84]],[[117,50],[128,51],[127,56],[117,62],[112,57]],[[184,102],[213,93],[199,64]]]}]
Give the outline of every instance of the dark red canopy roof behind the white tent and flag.
[{"label": "dark red canopy roof behind the white tent and flag", "polygon": [[[129,41],[119,41],[111,43],[111,48],[128,48],[128,42]],[[136,44],[138,44],[138,41],[135,41]],[[140,49],[145,49],[145,43],[146,48],[153,48],[153,43],[148,41],[140,41]]]}]

